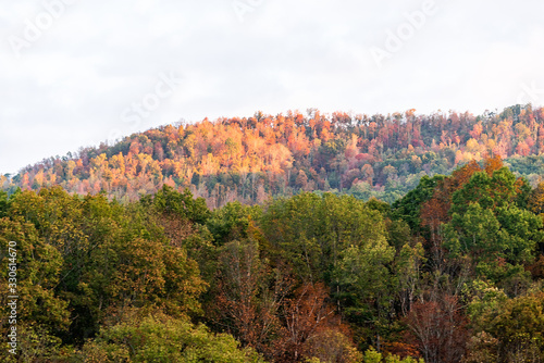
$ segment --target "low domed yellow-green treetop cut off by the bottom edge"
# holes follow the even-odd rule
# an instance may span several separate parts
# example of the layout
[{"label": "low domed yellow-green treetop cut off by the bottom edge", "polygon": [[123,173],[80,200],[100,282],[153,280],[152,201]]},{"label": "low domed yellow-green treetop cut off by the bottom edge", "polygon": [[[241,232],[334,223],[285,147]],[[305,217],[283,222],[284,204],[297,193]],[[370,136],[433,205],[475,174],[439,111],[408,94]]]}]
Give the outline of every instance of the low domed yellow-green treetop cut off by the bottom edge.
[{"label": "low domed yellow-green treetop cut off by the bottom edge", "polygon": [[76,356],[86,362],[264,362],[230,335],[156,313],[104,327]]}]

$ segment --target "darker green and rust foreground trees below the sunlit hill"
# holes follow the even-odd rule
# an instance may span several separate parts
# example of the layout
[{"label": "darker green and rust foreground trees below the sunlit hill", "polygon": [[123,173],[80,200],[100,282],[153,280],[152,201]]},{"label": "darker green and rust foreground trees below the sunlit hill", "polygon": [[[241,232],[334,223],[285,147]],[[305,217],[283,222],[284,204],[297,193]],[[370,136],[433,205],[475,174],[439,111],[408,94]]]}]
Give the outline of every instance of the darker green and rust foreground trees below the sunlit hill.
[{"label": "darker green and rust foreground trees below the sunlit hill", "polygon": [[126,203],[2,191],[0,330],[18,340],[0,358],[542,362],[543,213],[544,184],[499,157],[425,176],[394,204],[301,192],[210,210],[168,185]]}]

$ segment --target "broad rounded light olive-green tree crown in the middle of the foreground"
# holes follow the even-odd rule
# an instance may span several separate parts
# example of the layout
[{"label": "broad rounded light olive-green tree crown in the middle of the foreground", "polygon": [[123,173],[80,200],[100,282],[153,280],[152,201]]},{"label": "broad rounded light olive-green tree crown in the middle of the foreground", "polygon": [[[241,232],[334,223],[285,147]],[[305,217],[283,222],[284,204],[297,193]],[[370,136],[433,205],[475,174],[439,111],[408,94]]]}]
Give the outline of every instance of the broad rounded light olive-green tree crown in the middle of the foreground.
[{"label": "broad rounded light olive-green tree crown in the middle of the foreground", "polygon": [[302,279],[334,284],[333,271],[351,246],[384,242],[383,216],[350,196],[301,193],[277,199],[261,220],[264,236]]}]

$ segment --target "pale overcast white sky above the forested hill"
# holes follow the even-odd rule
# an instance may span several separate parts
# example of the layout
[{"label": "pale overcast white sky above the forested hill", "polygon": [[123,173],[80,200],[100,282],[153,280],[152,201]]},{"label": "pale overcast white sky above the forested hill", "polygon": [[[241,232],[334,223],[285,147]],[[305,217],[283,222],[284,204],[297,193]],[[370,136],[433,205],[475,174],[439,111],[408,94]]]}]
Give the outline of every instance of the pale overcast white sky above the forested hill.
[{"label": "pale overcast white sky above the forested hill", "polygon": [[0,5],[0,173],[135,132],[316,108],[544,104],[542,0]]}]

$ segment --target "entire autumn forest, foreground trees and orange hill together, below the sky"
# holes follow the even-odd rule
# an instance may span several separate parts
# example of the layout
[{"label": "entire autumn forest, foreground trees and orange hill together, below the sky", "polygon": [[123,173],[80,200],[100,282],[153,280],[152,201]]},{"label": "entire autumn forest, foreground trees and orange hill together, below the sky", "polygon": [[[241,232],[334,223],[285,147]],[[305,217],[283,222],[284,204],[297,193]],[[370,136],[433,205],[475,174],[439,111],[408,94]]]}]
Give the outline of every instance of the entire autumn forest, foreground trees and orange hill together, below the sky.
[{"label": "entire autumn forest, foreground trees and orange hill together, below the sky", "polygon": [[527,105],[44,160],[1,180],[0,361],[544,362],[543,152]]}]

